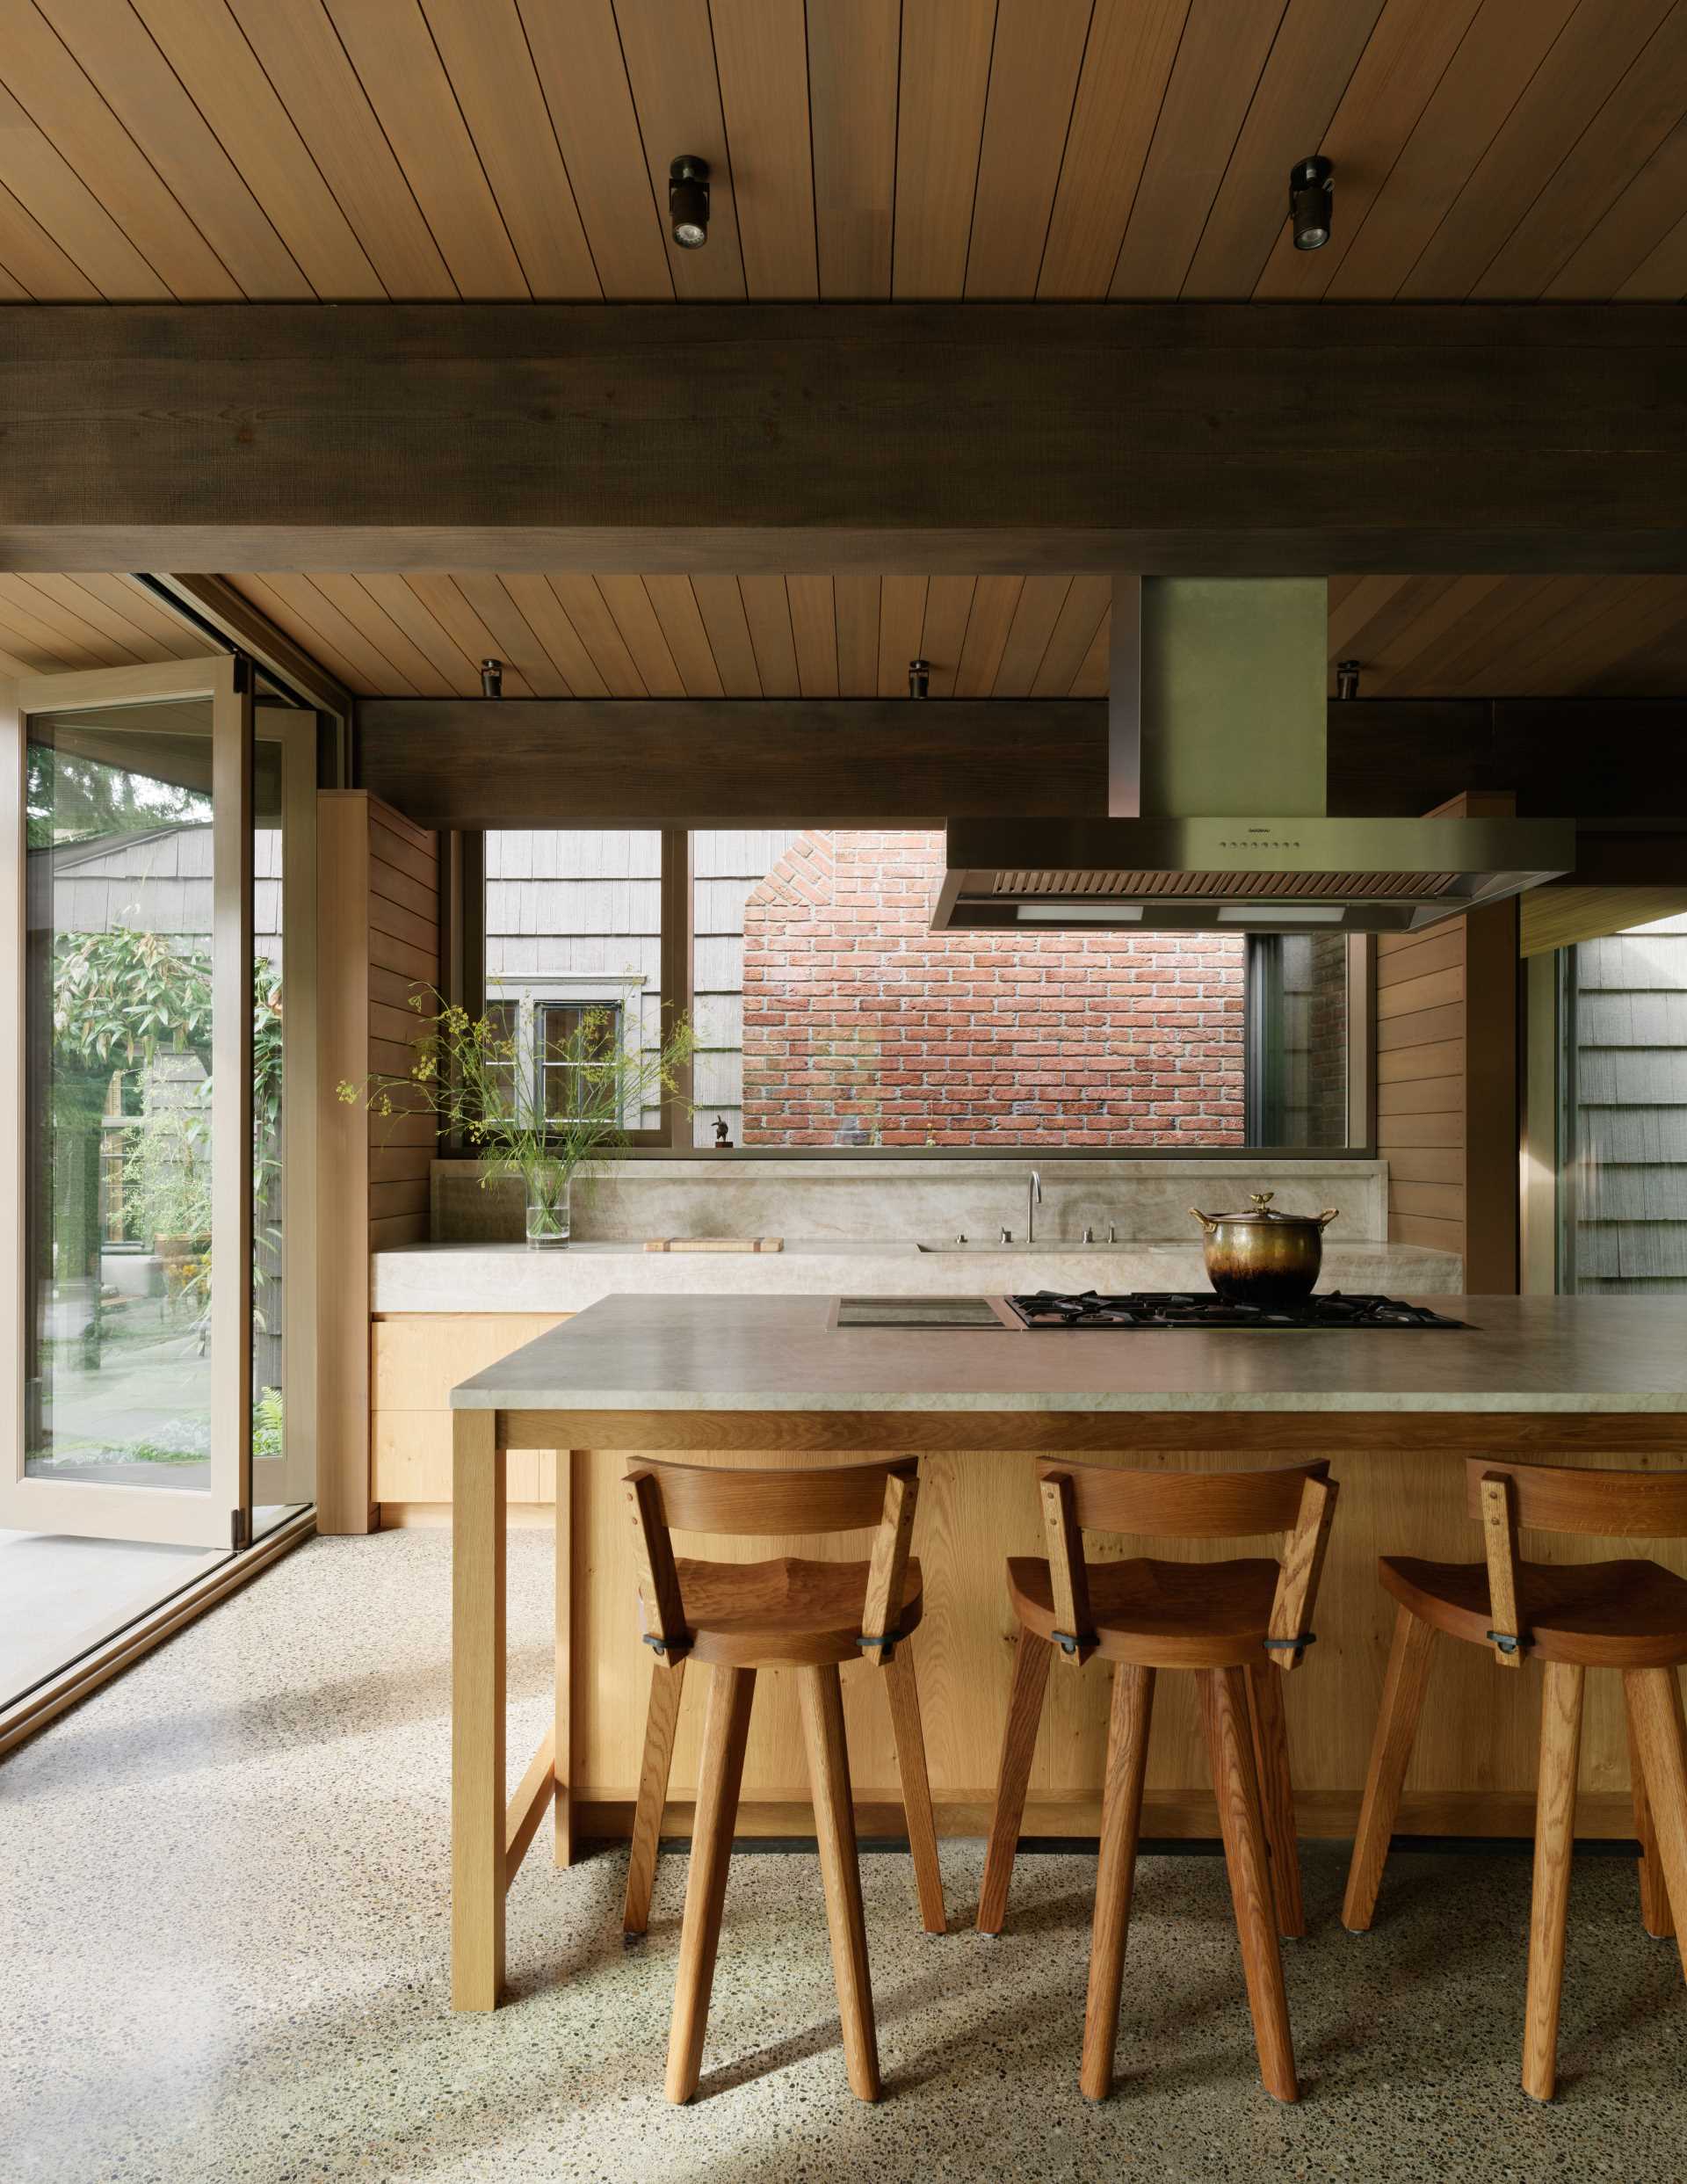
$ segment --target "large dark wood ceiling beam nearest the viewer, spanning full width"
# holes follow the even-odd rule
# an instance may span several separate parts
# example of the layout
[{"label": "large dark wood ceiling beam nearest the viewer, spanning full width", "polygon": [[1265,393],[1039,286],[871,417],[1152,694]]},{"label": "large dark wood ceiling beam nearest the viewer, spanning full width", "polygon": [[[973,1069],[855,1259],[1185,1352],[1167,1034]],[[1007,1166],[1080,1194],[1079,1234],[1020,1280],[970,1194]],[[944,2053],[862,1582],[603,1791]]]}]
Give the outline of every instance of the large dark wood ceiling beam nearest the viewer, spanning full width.
[{"label": "large dark wood ceiling beam nearest the viewer, spanning full width", "polygon": [[1670,306],[4,306],[0,568],[1687,570]]}]

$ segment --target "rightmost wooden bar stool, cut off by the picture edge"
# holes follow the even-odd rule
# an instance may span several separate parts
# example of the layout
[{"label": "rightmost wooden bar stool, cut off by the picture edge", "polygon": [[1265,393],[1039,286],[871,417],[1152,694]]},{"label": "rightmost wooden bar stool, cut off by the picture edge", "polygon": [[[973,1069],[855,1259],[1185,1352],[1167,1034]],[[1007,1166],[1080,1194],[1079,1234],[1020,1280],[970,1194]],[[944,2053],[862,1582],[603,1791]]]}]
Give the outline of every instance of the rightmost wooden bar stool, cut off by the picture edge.
[{"label": "rightmost wooden bar stool, cut off by the picture edge", "polygon": [[1384,1555],[1379,1562],[1399,1614],[1342,1922],[1364,1933],[1377,1909],[1436,1631],[1491,1647],[1501,1669],[1543,1662],[1523,2090],[1550,2101],[1558,2077],[1576,1762],[1589,1669],[1622,1669],[1635,1835],[1641,1843],[1641,1918],[1648,1933],[1667,1935],[1674,1911],[1687,1968],[1687,1756],[1676,1675],[1687,1660],[1687,1579],[1641,1559],[1519,1562],[1517,1529],[1683,1540],[1687,1476],[1495,1463],[1488,1457],[1469,1457],[1464,1472],[1486,1562],[1416,1562],[1410,1555]]}]

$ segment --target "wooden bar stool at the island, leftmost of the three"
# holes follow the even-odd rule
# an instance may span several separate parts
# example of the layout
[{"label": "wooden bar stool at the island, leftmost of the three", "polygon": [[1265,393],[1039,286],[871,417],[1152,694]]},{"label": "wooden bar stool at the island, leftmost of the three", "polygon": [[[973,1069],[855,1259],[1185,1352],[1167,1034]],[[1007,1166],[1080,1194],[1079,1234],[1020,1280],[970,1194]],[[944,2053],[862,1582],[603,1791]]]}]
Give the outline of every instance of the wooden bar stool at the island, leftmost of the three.
[{"label": "wooden bar stool at the island, leftmost of the three", "polygon": [[[928,1933],[943,1933],[947,1922],[932,1791],[925,1778],[925,1738],[919,1725],[914,1662],[906,1645],[919,1627],[923,1607],[919,1562],[908,1553],[919,1463],[908,1457],[895,1463],[805,1472],[642,1463],[626,1476],[624,1492],[639,1553],[644,1642],[655,1653],[633,1856],[626,1870],[622,1926],[629,1935],[642,1935],[650,1920],[650,1883],[685,1662],[709,1664],[692,1867],[685,1880],[674,2022],[668,2035],[668,2099],[690,2101],[703,2068],[703,2031],[727,1898],[727,1863],[738,1817],[738,1787],[744,1776],[755,1671],[797,1669],[845,2062],[851,2088],[862,2101],[877,2101],[880,2055],[838,1666],[864,1655],[884,1671],[921,1920]],[[740,1538],[875,1529],[877,1538],[871,1562],[799,1562],[788,1555],[751,1564],[677,1562],[670,1527]]]}]

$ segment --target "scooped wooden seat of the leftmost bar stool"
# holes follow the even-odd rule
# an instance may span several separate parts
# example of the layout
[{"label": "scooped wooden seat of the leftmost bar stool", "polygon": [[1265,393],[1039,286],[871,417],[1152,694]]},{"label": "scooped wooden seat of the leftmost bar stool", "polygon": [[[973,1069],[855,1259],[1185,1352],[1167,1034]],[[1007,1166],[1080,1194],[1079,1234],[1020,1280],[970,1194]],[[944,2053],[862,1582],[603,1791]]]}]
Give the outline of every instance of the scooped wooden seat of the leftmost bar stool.
[{"label": "scooped wooden seat of the leftmost bar stool", "polygon": [[[866,1562],[685,1562],[674,1557],[685,1601],[690,1658],[731,1669],[823,1669],[860,1660]],[[910,1557],[897,1636],[919,1627],[919,1562]]]}]

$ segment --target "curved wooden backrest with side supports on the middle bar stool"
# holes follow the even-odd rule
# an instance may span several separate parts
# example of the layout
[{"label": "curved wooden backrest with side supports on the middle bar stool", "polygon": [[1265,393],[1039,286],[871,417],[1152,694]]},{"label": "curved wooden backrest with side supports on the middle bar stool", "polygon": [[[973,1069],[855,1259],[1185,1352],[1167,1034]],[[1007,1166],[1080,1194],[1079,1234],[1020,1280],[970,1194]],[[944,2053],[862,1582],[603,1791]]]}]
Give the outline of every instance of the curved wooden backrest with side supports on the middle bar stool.
[{"label": "curved wooden backrest with side supports on the middle bar stool", "polygon": [[1161,1540],[1288,1533],[1268,1647],[1279,1669],[1301,1662],[1336,1514],[1336,1481],[1327,1461],[1292,1463],[1275,1472],[1133,1472],[1111,1463],[1043,1459],[1037,1485],[1056,1634],[1072,1640],[1061,1647],[1067,1662],[1080,1666],[1096,1651],[1085,1531],[1133,1531]]}]

